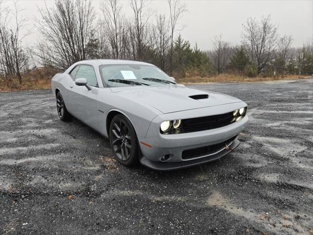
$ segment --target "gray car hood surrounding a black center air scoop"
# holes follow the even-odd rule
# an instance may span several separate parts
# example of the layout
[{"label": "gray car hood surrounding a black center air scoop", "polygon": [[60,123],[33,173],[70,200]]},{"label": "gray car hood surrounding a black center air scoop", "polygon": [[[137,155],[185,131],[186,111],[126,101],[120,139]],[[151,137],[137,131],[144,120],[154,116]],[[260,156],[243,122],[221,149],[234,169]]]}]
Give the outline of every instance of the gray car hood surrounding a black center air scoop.
[{"label": "gray car hood surrounding a black center air scoop", "polygon": [[[146,103],[163,114],[242,102],[229,95],[193,89],[184,85],[112,87],[111,90],[139,104]],[[206,94],[208,98],[189,97]]]}]

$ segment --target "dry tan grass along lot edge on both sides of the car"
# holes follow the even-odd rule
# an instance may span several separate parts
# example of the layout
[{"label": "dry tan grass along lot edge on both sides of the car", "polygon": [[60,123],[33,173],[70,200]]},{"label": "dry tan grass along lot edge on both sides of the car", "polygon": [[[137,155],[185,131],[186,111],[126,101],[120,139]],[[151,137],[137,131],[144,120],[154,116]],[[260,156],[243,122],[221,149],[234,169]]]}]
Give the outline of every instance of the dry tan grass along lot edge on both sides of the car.
[{"label": "dry tan grass along lot edge on both sides of the car", "polygon": [[[0,92],[5,91],[17,91],[17,90],[29,90],[29,89],[49,89],[51,88],[51,78],[57,73],[53,69],[37,68],[32,71],[26,72],[22,76],[22,85],[19,84],[16,78],[13,78],[13,82],[7,82],[3,78],[0,78]],[[307,78],[310,76],[298,76],[298,75],[285,75],[284,77],[263,77],[258,76],[254,78],[244,77],[238,74],[223,73],[211,77],[191,76],[185,78],[177,78],[177,82],[180,84],[192,84],[192,83],[208,83],[208,82],[261,82],[261,81],[273,81],[281,79],[299,79]]]}]

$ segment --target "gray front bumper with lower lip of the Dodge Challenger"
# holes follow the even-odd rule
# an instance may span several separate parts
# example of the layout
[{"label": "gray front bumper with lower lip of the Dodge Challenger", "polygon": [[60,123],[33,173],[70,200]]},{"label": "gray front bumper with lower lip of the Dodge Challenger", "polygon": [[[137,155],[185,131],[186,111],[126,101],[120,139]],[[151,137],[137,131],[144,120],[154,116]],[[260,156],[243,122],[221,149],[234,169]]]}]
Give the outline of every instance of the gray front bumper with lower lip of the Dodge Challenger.
[{"label": "gray front bumper with lower lip of the Dodge Challenger", "polygon": [[[182,159],[182,152],[223,143],[242,132],[247,121],[248,117],[245,116],[242,120],[221,128],[173,135],[163,135],[159,131],[153,131],[159,127],[158,124],[152,123],[152,125],[156,126],[150,126],[147,136],[139,138],[142,153],[140,163],[156,170],[173,170],[220,159],[229,153],[230,150],[221,148],[215,153],[204,154],[203,156],[190,159]],[[152,146],[140,144],[141,141]],[[240,141],[235,139],[230,143],[227,142],[227,145],[229,148],[235,149],[239,143]],[[169,156],[169,158],[166,161],[162,161],[161,159],[165,155]]]}]

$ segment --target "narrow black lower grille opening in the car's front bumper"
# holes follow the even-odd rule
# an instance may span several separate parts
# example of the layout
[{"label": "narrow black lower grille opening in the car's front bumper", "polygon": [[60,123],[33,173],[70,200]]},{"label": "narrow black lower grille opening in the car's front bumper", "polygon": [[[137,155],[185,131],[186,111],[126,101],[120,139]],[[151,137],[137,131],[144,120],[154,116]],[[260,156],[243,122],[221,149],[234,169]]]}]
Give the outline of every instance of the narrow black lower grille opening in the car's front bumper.
[{"label": "narrow black lower grille opening in the car's front bumper", "polygon": [[219,150],[223,149],[225,147],[225,144],[229,145],[232,141],[236,139],[237,136],[234,136],[226,141],[223,141],[221,143],[216,143],[209,146],[204,146],[200,148],[193,148],[184,150],[181,153],[181,159],[188,160],[193,158],[199,158],[205,155],[213,154],[218,152]]}]

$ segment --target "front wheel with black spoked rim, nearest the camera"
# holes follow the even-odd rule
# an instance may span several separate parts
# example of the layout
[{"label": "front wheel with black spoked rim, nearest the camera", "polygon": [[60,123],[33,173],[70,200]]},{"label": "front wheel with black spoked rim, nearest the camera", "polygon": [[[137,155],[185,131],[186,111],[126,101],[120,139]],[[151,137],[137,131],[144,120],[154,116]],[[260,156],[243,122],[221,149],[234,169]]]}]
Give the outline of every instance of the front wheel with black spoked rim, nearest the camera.
[{"label": "front wheel with black spoked rim, nearest the camera", "polygon": [[116,160],[125,166],[138,164],[138,140],[132,123],[116,115],[110,124],[111,149]]}]

